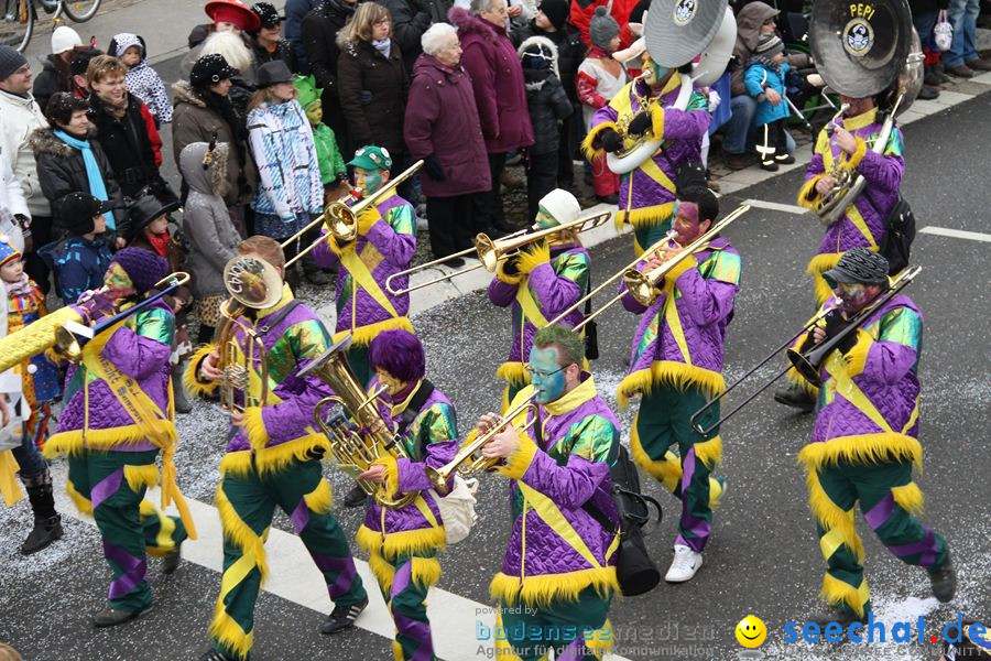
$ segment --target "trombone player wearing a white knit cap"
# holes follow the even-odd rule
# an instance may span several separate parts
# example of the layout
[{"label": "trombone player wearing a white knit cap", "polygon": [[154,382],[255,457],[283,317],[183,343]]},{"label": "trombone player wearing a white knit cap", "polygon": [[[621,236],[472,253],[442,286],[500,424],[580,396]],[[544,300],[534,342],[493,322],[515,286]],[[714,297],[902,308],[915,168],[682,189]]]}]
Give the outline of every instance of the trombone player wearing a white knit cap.
[{"label": "trombone player wearing a white knit cap", "polygon": [[[536,223],[541,229],[574,223],[581,213],[575,196],[563,188],[541,198],[538,209]],[[547,326],[548,319],[575,305],[588,288],[588,251],[575,230],[562,230],[500,263],[489,284],[489,300],[500,307],[512,306],[513,321],[509,358],[496,372],[507,382],[503,410],[530,382],[523,360],[530,355],[534,335]],[[563,323],[575,326],[581,318],[581,311],[575,310]]]}]

